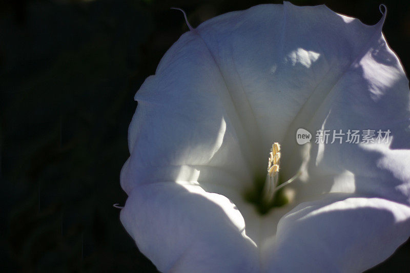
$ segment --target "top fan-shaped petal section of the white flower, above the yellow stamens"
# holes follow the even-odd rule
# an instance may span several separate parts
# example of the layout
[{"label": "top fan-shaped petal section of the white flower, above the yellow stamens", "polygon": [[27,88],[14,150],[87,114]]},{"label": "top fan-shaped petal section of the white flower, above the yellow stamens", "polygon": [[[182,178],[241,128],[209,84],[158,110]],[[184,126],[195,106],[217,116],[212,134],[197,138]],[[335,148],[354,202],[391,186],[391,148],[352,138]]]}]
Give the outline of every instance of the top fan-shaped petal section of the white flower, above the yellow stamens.
[{"label": "top fan-shaped petal section of the white flower, above the yellow stamens", "polygon": [[287,140],[288,131],[294,143],[293,121],[314,115],[346,70],[371,49],[383,20],[367,26],[324,5],[284,2],[223,14],[197,31],[241,110],[250,142],[263,153],[273,141]]}]

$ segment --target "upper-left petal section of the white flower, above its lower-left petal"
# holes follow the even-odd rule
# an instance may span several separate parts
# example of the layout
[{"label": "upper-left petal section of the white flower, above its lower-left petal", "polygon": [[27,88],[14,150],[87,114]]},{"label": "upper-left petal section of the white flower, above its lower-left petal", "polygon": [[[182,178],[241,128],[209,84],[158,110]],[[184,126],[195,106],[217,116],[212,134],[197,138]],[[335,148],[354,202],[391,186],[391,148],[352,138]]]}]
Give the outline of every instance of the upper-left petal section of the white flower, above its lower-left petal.
[{"label": "upper-left petal section of the white flower, above its lower-left petal", "polygon": [[203,41],[193,32],[182,35],[135,95],[131,156],[121,171],[127,193],[139,183],[175,181],[182,165],[232,173],[239,185],[251,179],[244,157],[251,150],[239,145],[241,125],[217,94],[224,89]]}]

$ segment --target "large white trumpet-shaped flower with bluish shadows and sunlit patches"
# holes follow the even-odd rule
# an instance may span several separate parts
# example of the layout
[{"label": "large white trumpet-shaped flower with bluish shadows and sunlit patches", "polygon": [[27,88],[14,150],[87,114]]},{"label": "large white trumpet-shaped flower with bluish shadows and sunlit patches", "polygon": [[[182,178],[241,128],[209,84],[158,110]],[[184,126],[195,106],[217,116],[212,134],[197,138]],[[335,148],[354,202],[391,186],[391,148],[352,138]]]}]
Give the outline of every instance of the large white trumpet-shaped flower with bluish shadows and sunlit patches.
[{"label": "large white trumpet-shaped flower with bluish shadows and sunlit patches", "polygon": [[[409,237],[410,93],[383,21],[284,3],[179,38],[135,95],[121,171],[121,222],[160,271],[359,272]],[[391,139],[298,145],[299,128]],[[272,207],[274,142],[279,181],[300,175]]]}]

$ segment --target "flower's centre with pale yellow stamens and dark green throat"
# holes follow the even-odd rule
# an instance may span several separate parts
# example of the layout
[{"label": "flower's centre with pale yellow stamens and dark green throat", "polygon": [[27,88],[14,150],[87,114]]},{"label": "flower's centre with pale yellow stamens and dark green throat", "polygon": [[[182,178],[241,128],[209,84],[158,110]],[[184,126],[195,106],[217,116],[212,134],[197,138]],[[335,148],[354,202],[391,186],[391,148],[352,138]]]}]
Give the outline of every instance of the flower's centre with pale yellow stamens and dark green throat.
[{"label": "flower's centre with pale yellow stamens and dark green throat", "polygon": [[255,205],[260,215],[267,214],[272,208],[280,207],[293,201],[292,191],[284,188],[292,183],[299,175],[298,172],[288,181],[281,181],[279,176],[280,144],[272,144],[268,158],[268,173],[256,176],[254,187],[244,193],[246,201]]}]

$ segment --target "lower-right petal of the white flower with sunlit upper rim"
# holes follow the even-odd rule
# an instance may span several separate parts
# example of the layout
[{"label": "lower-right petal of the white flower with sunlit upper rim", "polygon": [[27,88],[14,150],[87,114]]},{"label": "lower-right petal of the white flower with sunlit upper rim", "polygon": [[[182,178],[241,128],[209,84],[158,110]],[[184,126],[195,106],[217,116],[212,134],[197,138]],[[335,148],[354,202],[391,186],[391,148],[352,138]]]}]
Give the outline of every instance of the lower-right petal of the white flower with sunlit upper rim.
[{"label": "lower-right petal of the white flower with sunlit upper rim", "polygon": [[269,272],[362,272],[408,238],[410,207],[380,198],[330,194],[279,221],[264,257]]}]

